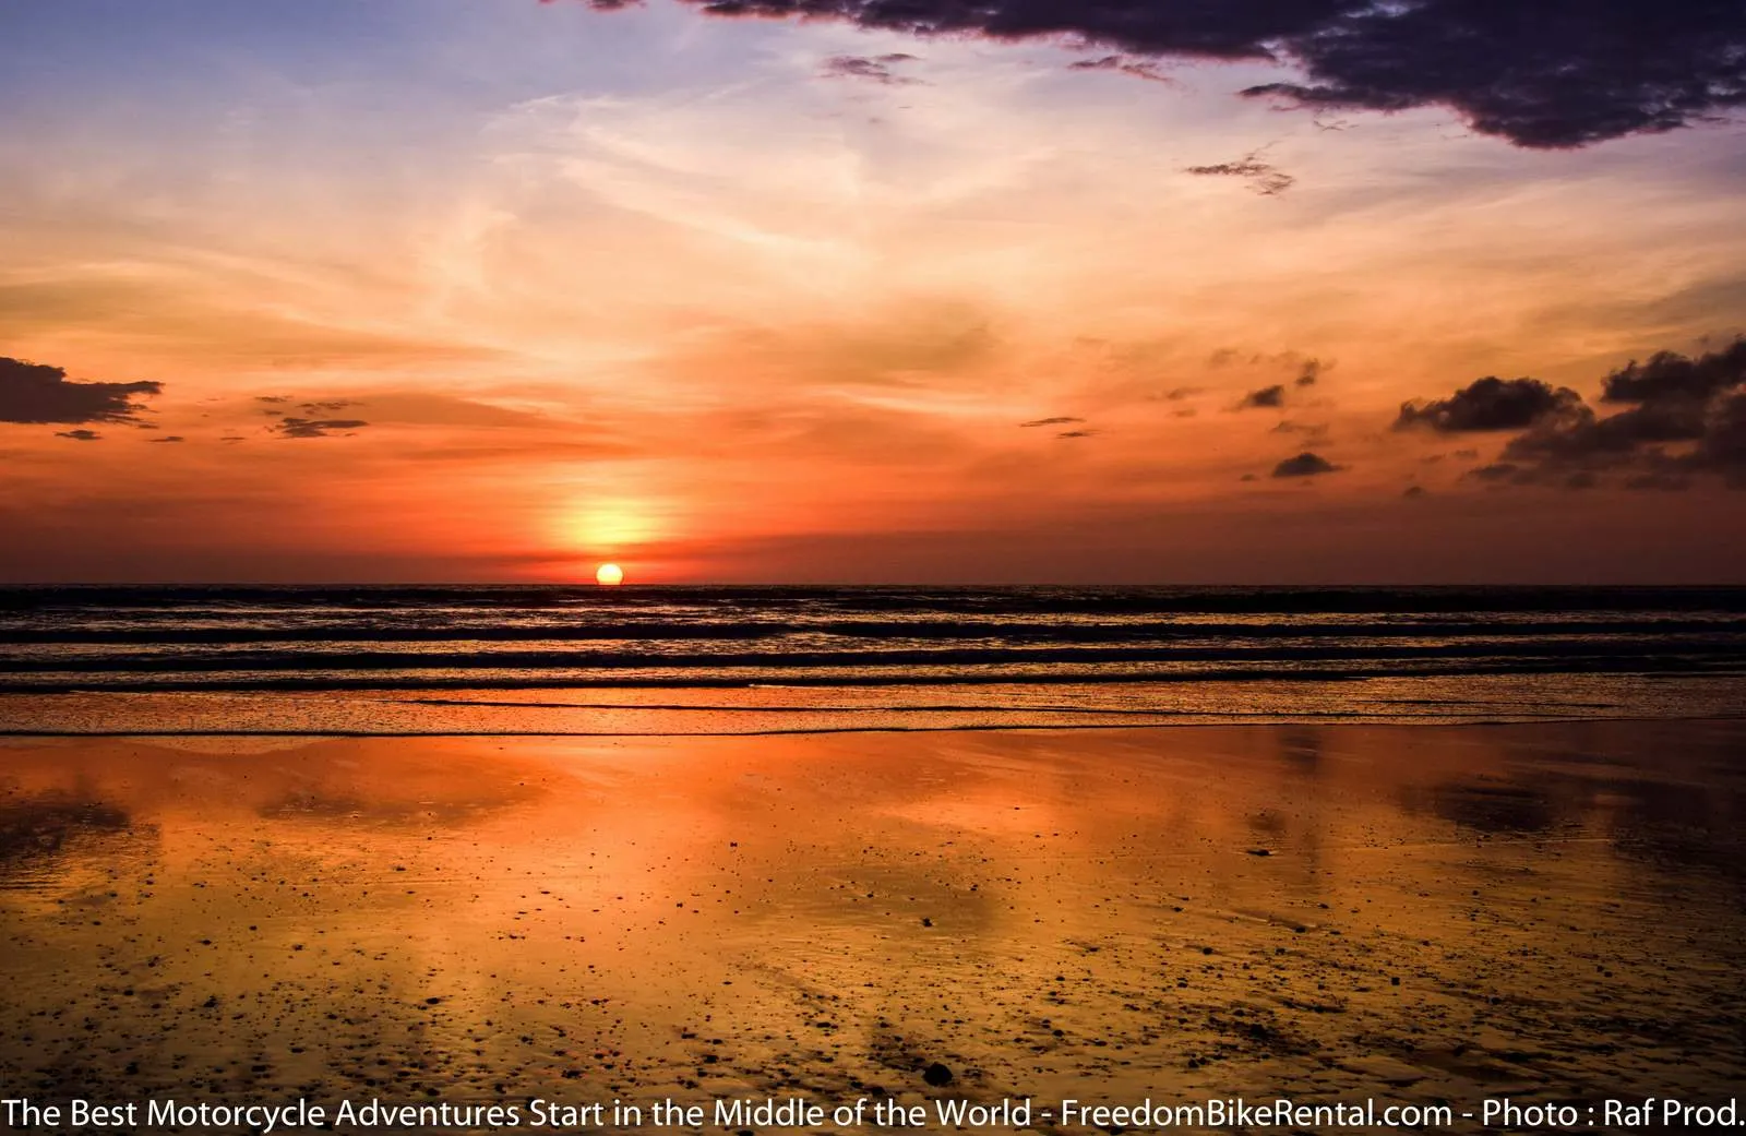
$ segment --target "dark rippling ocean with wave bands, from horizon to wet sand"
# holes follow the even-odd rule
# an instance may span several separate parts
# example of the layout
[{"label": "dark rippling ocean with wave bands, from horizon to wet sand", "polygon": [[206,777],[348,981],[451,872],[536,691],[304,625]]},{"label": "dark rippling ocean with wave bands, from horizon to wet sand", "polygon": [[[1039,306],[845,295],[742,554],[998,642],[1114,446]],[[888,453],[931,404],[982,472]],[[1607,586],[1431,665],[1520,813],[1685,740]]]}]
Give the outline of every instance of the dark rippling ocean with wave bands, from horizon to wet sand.
[{"label": "dark rippling ocean with wave bands, from horizon to wet sand", "polygon": [[1746,588],[5,588],[0,696],[12,731],[1718,715]]}]

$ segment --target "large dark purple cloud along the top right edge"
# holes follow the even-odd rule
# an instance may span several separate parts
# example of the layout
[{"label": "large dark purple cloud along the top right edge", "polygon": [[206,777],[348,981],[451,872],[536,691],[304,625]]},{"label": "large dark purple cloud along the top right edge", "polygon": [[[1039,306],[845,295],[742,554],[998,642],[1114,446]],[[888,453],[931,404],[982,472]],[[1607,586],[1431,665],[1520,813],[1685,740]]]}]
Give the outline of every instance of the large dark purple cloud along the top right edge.
[{"label": "large dark purple cloud along the top right edge", "polygon": [[1671,131],[1746,105],[1746,5],[1736,0],[684,2],[707,16],[840,19],[918,37],[1067,38],[1144,59],[1289,65],[1301,80],[1243,94],[1311,112],[1446,106],[1474,131],[1529,148]]}]

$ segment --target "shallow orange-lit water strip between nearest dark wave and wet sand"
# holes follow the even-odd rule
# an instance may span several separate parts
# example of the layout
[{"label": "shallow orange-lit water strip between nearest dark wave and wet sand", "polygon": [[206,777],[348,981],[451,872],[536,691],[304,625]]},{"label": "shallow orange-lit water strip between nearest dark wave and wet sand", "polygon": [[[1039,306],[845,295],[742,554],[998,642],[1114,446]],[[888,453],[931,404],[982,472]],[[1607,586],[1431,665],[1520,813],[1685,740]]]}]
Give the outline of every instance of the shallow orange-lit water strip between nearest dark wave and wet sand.
[{"label": "shallow orange-lit water strip between nearest dark wave and wet sand", "polygon": [[1680,721],[1739,717],[1746,679],[1388,679],[740,689],[613,688],[527,693],[0,695],[0,736],[784,736],[1014,728],[1310,722]]}]

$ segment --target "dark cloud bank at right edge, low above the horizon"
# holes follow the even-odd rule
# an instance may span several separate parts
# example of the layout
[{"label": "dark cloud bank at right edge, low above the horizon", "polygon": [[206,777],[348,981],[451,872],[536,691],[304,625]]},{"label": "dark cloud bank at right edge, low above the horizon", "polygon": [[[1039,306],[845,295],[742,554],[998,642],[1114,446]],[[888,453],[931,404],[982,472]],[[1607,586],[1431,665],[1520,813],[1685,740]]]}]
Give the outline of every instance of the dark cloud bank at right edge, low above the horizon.
[{"label": "dark cloud bank at right edge, low above the horizon", "polygon": [[[1601,382],[1599,401],[1624,410],[1605,417],[1575,391],[1552,393],[1535,379],[1512,382],[1519,384],[1514,391],[1526,394],[1507,403],[1509,414],[1481,415],[1505,426],[1470,429],[1521,433],[1505,443],[1496,462],[1470,469],[1468,478],[1584,489],[1619,475],[1627,489],[1685,489],[1699,475],[1718,475],[1727,485],[1746,489],[1746,340],[1697,358],[1662,351],[1646,363],[1612,372]],[[1484,401],[1488,410],[1500,405],[1505,403]]]}]

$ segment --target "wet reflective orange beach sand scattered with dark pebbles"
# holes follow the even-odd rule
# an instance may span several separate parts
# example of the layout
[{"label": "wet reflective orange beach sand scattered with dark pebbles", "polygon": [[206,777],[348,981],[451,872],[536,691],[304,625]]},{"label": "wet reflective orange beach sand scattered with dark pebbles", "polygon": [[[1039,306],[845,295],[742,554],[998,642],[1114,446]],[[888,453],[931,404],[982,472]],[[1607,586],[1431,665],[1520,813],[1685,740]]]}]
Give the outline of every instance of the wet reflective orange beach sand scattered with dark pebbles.
[{"label": "wet reflective orange beach sand scattered with dark pebbles", "polygon": [[1743,822],[1739,721],[9,740],[0,1084],[1718,1101]]}]

